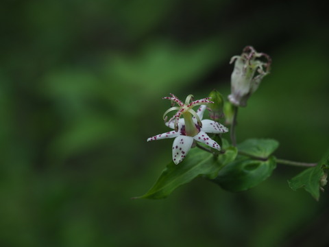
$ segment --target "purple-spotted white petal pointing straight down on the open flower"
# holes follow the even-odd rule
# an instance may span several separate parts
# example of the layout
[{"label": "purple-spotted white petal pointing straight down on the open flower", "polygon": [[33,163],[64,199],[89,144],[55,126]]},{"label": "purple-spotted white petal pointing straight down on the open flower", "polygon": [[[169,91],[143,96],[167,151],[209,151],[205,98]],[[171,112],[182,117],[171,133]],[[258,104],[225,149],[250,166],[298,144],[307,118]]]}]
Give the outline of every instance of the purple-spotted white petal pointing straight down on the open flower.
[{"label": "purple-spotted white petal pointing straight down on the open flower", "polygon": [[193,144],[193,137],[182,136],[173,140],[173,163],[176,165],[183,161]]}]

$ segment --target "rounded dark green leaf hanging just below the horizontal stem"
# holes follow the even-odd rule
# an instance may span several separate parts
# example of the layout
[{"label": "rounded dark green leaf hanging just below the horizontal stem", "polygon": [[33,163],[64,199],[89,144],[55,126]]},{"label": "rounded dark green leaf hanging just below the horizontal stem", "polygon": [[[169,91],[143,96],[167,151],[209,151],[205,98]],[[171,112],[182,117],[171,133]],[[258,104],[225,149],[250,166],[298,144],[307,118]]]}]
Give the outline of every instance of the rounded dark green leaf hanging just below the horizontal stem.
[{"label": "rounded dark green leaf hanging just below the horizontal stem", "polygon": [[239,158],[223,167],[212,181],[228,191],[244,191],[263,182],[275,168],[276,159],[273,156],[267,161]]}]

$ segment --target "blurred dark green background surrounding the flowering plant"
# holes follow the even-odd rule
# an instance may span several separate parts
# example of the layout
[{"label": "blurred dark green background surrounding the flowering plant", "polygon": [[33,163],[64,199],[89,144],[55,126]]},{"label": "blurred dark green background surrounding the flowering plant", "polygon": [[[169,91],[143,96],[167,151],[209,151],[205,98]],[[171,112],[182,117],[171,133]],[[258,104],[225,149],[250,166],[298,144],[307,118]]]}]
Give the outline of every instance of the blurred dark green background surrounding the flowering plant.
[{"label": "blurred dark green background surrounding the flowering plant", "polygon": [[175,93],[230,93],[245,45],[273,59],[237,139],[316,162],[329,146],[321,1],[1,1],[0,246],[326,246],[329,194],[289,189],[278,165],[241,193],[206,180],[141,196],[171,160]]}]

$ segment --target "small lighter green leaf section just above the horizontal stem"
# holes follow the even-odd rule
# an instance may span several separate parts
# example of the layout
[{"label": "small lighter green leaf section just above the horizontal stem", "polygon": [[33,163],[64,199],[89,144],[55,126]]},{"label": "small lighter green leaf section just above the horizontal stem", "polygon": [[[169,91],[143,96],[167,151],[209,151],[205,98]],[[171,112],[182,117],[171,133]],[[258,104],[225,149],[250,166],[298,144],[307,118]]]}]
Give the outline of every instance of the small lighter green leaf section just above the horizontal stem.
[{"label": "small lighter green leaf section just above the horizontal stem", "polygon": [[278,141],[273,139],[247,139],[238,145],[238,150],[259,158],[267,158],[278,146]]}]

